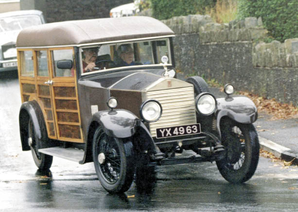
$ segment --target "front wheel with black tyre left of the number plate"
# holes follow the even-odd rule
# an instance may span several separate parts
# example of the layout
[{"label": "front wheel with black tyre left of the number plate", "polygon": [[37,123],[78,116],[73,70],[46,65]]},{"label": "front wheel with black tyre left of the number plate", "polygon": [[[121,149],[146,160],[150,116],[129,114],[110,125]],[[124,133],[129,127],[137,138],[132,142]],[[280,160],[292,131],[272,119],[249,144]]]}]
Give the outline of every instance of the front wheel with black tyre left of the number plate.
[{"label": "front wheel with black tyre left of the number plate", "polygon": [[132,142],[109,137],[98,127],[92,150],[95,171],[105,190],[111,194],[126,192],[135,172]]}]

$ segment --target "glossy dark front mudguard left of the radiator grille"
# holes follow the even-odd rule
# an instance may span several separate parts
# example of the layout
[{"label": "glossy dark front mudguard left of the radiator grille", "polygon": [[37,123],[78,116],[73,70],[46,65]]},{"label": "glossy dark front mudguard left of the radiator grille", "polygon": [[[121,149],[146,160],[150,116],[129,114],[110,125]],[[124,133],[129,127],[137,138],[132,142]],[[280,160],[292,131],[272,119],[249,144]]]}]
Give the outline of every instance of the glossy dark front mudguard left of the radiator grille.
[{"label": "glossy dark front mudguard left of the radiator grille", "polygon": [[[156,153],[156,145],[145,124],[132,112],[124,109],[105,110],[94,113],[88,127],[87,151],[80,163],[91,162],[91,143],[96,126],[100,125],[105,133],[115,138],[133,138],[134,146],[141,152]],[[140,139],[135,139],[138,137]]]}]

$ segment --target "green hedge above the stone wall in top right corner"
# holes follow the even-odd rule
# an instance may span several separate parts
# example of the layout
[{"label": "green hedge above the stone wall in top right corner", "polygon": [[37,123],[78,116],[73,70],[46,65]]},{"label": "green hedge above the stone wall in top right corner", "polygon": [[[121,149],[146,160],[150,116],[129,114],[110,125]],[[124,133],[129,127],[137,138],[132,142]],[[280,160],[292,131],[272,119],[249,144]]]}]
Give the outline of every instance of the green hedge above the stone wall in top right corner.
[{"label": "green hedge above the stone wall in top right corner", "polygon": [[238,18],[262,17],[269,35],[283,42],[298,37],[298,0],[238,0]]}]

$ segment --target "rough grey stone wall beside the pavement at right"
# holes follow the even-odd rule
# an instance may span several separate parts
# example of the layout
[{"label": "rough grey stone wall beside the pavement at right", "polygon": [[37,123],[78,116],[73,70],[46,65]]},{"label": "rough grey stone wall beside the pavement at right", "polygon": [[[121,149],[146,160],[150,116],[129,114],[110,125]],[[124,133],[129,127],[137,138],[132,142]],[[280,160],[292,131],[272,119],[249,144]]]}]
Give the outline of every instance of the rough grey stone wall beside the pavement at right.
[{"label": "rough grey stone wall beside the pavement at right", "polygon": [[298,105],[298,38],[264,43],[261,18],[218,24],[209,16],[189,15],[162,21],[176,34],[176,68],[185,76]]}]

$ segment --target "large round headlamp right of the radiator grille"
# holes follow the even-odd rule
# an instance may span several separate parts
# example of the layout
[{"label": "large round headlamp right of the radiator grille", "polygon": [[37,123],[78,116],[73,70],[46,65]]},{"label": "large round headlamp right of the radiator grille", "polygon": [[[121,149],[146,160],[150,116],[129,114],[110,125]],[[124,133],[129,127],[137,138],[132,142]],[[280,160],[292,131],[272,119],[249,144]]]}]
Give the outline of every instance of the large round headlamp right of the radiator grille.
[{"label": "large round headlamp right of the radiator grille", "polygon": [[199,113],[208,116],[216,110],[215,97],[210,93],[200,93],[195,98],[195,106]]}]

